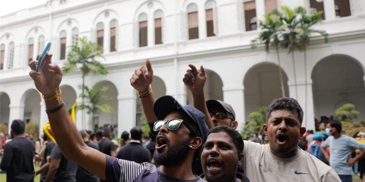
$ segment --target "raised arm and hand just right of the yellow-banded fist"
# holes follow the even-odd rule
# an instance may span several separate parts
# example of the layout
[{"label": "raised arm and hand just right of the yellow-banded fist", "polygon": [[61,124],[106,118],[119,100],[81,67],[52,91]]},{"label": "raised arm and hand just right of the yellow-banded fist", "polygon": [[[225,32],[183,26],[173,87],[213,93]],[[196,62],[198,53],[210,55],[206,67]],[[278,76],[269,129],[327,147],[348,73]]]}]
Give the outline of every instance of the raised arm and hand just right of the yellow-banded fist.
[{"label": "raised arm and hand just right of the yellow-banded fist", "polygon": [[194,65],[189,65],[189,67],[190,69],[188,69],[184,75],[183,83],[185,83],[187,89],[189,89],[193,95],[194,107],[204,113],[205,123],[208,128],[213,128],[213,122],[205,103],[204,84],[206,81],[206,75],[204,67],[200,66],[200,70],[197,70]]}]

